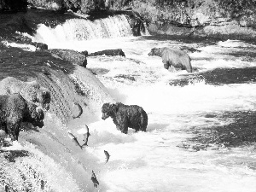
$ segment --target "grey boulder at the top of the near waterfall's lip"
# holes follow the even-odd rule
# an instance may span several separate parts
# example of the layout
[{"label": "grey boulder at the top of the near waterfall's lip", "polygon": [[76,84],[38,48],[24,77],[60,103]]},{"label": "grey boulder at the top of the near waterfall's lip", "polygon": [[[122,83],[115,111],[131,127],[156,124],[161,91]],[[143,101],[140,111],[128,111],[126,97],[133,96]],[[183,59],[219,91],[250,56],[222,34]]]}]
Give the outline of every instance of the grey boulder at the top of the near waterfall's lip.
[{"label": "grey boulder at the top of the near waterfall's lip", "polygon": [[78,51],[72,49],[48,49],[47,51],[51,53],[51,55],[61,58],[64,61],[70,61],[82,67],[86,67],[87,65],[86,56]]}]

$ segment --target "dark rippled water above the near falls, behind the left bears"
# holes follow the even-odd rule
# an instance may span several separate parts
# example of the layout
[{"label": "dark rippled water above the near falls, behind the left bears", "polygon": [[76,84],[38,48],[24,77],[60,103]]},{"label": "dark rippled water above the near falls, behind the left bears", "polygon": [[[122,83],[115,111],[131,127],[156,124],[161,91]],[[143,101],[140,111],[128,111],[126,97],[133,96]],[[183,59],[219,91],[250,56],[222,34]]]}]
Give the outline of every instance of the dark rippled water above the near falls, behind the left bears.
[{"label": "dark rippled water above the near falls, behind the left bears", "polygon": [[34,79],[42,69],[49,67],[52,70],[65,70],[72,73],[75,66],[53,56],[47,50],[26,51],[15,47],[6,47],[0,42],[0,80],[6,77],[15,77],[22,81]]}]

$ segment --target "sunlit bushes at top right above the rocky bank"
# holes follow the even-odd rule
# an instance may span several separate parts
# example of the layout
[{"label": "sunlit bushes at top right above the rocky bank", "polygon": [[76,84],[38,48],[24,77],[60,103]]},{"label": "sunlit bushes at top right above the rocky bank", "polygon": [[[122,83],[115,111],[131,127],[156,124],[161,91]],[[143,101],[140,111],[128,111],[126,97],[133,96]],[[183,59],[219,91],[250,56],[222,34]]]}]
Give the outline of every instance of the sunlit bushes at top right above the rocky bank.
[{"label": "sunlit bushes at top right above the rocky bank", "polygon": [[[196,13],[209,18],[253,14],[256,0],[136,0],[134,9],[148,20],[189,23]],[[195,17],[195,18],[193,18]]]}]

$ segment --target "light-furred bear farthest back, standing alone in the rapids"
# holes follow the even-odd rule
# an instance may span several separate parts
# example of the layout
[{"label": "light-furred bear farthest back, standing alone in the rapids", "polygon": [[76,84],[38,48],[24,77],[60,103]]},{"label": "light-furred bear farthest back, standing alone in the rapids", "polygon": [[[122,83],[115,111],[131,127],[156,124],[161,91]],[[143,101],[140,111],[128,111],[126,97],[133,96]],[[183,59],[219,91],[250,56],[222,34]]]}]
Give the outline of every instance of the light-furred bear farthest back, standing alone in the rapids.
[{"label": "light-furred bear farthest back, standing alone in the rapids", "polygon": [[169,67],[177,67],[181,68],[182,70],[186,70],[189,73],[192,73],[192,66],[191,66],[191,59],[189,55],[181,50],[181,49],[174,49],[174,48],[153,48],[148,53],[149,56],[157,55],[162,58],[164,63],[164,67],[168,70]]}]

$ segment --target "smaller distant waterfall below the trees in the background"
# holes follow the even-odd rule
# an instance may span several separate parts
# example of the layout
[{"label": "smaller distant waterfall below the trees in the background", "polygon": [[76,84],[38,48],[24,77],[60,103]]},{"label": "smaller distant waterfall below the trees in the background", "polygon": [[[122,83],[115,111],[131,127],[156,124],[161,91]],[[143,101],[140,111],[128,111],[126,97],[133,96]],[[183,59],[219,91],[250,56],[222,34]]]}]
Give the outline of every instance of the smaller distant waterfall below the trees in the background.
[{"label": "smaller distant waterfall below the trees in the background", "polygon": [[99,20],[71,19],[65,23],[50,28],[39,25],[35,38],[37,41],[89,40],[96,38],[120,38],[132,36],[131,27],[125,15],[115,15]]}]

